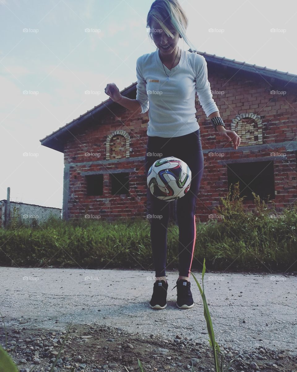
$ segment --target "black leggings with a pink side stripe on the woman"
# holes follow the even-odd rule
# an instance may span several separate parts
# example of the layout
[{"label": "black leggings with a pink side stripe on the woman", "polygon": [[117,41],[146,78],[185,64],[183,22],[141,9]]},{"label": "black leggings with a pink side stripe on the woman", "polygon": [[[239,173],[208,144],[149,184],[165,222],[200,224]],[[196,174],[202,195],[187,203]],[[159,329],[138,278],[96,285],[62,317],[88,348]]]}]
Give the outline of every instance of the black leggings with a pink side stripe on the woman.
[{"label": "black leggings with a pink side stripe on the woman", "polygon": [[[145,156],[146,176],[150,166],[167,156],[177,157],[187,163],[192,172],[189,191],[177,199],[177,222],[179,225],[179,275],[189,277],[193,260],[196,222],[195,206],[200,181],[204,169],[204,158],[200,140],[200,129],[180,137],[148,136]],[[151,201],[151,248],[153,251],[156,277],[166,276],[167,228],[169,224],[169,203],[153,196],[148,190]]]}]

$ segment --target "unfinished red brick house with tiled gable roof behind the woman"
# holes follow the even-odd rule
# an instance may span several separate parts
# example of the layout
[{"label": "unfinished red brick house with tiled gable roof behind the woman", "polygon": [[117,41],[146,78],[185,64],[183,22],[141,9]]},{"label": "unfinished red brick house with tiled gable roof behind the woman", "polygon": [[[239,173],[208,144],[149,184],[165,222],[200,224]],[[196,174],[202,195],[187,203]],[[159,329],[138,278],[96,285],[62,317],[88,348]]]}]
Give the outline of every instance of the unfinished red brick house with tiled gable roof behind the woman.
[{"label": "unfinished red brick house with tiled gable roof behind the woman", "polygon": [[[252,191],[281,212],[296,201],[297,77],[206,53],[208,79],[226,129],[241,137],[234,150],[212,128],[196,94],[205,168],[196,218],[207,221],[239,180],[245,208]],[[121,91],[136,98],[136,82]],[[64,153],[63,219],[146,218],[144,155],[148,111],[134,114],[107,99],[40,140]],[[272,203],[268,206],[272,207]],[[171,217],[176,201],[170,202]]]}]

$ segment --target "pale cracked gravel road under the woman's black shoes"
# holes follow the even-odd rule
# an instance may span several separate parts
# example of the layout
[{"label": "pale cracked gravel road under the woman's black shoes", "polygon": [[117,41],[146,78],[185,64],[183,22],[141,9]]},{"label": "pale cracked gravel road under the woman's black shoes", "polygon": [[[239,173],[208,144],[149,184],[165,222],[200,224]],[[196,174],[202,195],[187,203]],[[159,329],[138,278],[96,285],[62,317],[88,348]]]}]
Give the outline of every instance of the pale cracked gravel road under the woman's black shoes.
[{"label": "pale cracked gravel road under the woman's black shoes", "polygon": [[[177,272],[167,272],[167,308],[149,307],[154,272],[117,269],[0,267],[0,311],[15,328],[105,324],[144,336],[208,338],[198,286],[191,277],[195,305],[176,307]],[[202,286],[202,274],[194,272]],[[297,350],[297,276],[212,273],[204,276],[216,341],[234,348]],[[1,327],[3,330],[3,327]]]}]

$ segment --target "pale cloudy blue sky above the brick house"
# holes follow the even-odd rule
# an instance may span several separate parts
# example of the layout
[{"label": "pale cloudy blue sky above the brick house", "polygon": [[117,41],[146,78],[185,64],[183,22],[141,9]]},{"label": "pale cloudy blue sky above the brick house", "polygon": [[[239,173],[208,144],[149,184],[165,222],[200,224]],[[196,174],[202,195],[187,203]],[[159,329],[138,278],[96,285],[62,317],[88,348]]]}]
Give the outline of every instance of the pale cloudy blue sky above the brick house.
[{"label": "pale cloudy blue sky above the brick house", "polygon": [[[287,0],[179,2],[198,51],[297,74]],[[11,201],[62,208],[63,154],[40,140],[105,101],[108,83],[136,82],[137,58],[156,50],[152,3],[0,0],[0,200],[10,187]]]}]

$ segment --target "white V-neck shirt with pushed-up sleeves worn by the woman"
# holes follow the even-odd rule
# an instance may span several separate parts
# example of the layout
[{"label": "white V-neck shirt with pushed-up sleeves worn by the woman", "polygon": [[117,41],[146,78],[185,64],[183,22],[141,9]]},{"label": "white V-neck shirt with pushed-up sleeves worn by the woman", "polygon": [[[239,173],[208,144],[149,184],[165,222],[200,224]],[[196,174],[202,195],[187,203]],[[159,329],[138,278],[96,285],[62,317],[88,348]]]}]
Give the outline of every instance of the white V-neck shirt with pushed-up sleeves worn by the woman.
[{"label": "white V-neck shirt with pushed-up sleeves worn by the woman", "polygon": [[212,98],[205,58],[182,49],[179,64],[170,70],[160,60],[158,49],[136,61],[136,99],[141,113],[148,111],[148,136],[179,137],[198,130],[195,93],[209,116],[219,111]]}]

